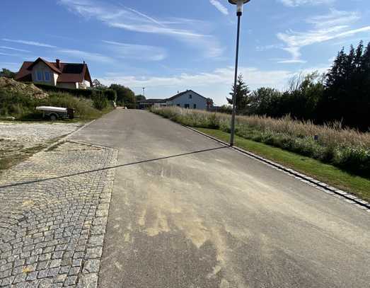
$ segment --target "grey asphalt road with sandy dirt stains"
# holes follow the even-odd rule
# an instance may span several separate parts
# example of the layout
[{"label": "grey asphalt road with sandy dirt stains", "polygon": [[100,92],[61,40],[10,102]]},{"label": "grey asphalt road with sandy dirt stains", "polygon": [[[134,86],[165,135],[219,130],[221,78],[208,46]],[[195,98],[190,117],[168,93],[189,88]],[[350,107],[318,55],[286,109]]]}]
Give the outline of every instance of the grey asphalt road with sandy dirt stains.
[{"label": "grey asphalt road with sandy dirt stains", "polygon": [[74,139],[128,164],[99,287],[369,287],[369,212],[144,111],[115,110]]}]

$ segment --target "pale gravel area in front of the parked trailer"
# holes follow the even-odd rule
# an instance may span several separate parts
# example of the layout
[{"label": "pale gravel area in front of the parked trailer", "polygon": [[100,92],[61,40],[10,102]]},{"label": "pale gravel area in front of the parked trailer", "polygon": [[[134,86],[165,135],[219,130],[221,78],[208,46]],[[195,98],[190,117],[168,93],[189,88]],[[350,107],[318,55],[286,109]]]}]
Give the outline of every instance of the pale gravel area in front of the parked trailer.
[{"label": "pale gravel area in front of the parked trailer", "polygon": [[0,159],[48,144],[81,126],[81,123],[0,122]]}]

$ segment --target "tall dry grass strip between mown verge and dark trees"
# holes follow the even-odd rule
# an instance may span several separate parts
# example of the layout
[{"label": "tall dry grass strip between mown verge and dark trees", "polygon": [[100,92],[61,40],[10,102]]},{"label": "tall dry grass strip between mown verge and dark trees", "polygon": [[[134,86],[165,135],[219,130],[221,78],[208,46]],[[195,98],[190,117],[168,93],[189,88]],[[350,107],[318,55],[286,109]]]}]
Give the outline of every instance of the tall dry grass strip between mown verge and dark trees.
[{"label": "tall dry grass strip between mown verge and dark trees", "polygon": [[[178,107],[153,108],[152,112],[183,125],[230,132],[231,116],[227,114]],[[314,125],[289,115],[280,119],[238,116],[236,134],[370,178],[370,133],[342,127],[339,122]]]}]

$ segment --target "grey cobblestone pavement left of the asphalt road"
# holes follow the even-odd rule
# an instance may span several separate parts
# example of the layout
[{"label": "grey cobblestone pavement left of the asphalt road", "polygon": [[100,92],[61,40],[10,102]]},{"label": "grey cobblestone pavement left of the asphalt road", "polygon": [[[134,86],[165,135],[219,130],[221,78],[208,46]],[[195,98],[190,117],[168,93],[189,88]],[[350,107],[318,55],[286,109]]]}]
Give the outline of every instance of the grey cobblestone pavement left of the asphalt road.
[{"label": "grey cobblestone pavement left of the asphalt road", "polygon": [[116,161],[64,142],[1,175],[0,287],[97,286]]}]

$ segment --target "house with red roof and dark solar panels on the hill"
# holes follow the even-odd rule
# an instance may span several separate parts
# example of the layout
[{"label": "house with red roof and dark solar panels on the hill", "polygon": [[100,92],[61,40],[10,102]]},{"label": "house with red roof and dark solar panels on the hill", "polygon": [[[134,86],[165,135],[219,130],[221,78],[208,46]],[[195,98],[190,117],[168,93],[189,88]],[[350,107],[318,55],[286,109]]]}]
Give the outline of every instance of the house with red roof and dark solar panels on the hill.
[{"label": "house with red roof and dark solar panels on the hill", "polygon": [[93,86],[85,62],[63,63],[59,59],[48,62],[40,57],[34,62],[23,62],[16,74],[16,80],[73,89],[86,89]]}]

